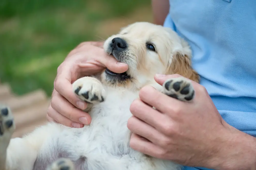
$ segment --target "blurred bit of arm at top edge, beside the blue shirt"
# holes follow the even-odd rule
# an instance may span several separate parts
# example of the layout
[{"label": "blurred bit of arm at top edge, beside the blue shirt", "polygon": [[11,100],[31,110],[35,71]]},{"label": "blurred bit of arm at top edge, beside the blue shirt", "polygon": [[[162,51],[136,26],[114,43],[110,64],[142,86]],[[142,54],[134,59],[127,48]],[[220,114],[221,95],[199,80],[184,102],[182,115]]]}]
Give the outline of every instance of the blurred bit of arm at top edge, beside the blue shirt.
[{"label": "blurred bit of arm at top edge, beside the blue shirt", "polygon": [[169,0],[152,0],[154,23],[163,25],[169,12]]}]

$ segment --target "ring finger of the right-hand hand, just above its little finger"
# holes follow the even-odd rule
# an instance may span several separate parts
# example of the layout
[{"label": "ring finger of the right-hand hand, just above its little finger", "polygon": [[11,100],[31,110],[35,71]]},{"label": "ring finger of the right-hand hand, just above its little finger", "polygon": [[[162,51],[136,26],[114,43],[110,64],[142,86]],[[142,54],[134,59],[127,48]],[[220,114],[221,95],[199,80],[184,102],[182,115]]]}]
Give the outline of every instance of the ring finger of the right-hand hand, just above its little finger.
[{"label": "ring finger of the right-hand hand, just above its little finger", "polygon": [[128,120],[127,127],[131,130],[131,132],[146,138],[156,145],[161,146],[162,141],[167,140],[167,138],[162,133],[158,132],[158,130],[156,130],[154,127],[146,124],[134,116]]}]

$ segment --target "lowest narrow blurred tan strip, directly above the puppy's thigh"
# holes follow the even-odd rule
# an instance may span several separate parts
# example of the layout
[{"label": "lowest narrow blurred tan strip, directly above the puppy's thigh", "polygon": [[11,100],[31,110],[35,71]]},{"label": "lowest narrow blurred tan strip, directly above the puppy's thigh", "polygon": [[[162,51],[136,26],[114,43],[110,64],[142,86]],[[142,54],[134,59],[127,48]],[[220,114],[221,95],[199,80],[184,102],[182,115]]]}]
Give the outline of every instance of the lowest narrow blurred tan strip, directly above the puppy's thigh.
[{"label": "lowest narrow blurred tan strip, directly above the puppy's thigh", "polygon": [[12,138],[23,137],[24,135],[33,132],[36,127],[41,126],[41,125],[45,125],[46,123],[47,123],[46,120],[40,120],[40,121],[37,121],[37,122],[30,123],[26,127],[23,127],[23,128],[20,128],[20,129],[16,128],[15,132],[12,135]]}]

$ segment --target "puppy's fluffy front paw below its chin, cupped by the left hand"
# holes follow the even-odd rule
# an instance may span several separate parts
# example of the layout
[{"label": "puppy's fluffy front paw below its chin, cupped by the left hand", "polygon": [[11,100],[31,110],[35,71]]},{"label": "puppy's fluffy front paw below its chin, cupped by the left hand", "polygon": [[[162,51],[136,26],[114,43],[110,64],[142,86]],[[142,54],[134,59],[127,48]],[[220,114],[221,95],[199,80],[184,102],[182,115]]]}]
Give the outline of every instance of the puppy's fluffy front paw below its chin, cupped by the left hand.
[{"label": "puppy's fluffy front paw below its chin, cupped by the left hand", "polygon": [[105,99],[105,90],[101,82],[94,77],[82,77],[73,84],[73,92],[87,103],[99,103]]}]

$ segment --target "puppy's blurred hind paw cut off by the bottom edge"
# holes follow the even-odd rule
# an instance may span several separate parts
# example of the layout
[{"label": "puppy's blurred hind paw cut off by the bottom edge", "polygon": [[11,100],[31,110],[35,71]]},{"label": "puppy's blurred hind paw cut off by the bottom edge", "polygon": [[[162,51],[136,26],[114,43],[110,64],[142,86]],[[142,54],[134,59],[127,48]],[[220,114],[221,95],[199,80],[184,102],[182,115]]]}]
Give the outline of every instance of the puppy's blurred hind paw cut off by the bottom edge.
[{"label": "puppy's blurred hind paw cut off by the bottom edge", "polygon": [[47,170],[74,170],[74,164],[69,159],[60,158],[48,166]]}]

